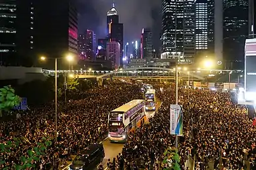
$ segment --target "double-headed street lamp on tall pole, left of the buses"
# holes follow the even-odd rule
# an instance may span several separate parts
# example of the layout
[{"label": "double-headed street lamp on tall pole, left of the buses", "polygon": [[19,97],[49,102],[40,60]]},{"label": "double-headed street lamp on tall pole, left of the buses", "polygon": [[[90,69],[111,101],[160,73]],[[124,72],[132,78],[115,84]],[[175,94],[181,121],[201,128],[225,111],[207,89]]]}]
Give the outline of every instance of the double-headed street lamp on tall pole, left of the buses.
[{"label": "double-headed street lamp on tall pole, left of the buses", "polygon": [[[64,57],[64,58],[66,58],[67,60],[73,60],[73,57],[71,57],[71,55],[68,55],[68,57]],[[71,59],[72,58],[72,59]],[[57,137],[58,137],[58,122],[57,122],[57,120],[58,120],[58,101],[57,101],[57,96],[58,96],[58,94],[57,94],[57,88],[58,88],[58,84],[57,84],[57,77],[58,77],[58,75],[57,75],[57,67],[58,67],[58,62],[57,62],[57,60],[58,59],[63,59],[63,58],[46,58],[46,57],[44,57],[44,56],[42,56],[42,57],[40,57],[40,60],[46,60],[46,59],[54,59],[55,60],[55,137],[56,137],[56,142],[57,142]]]}]

